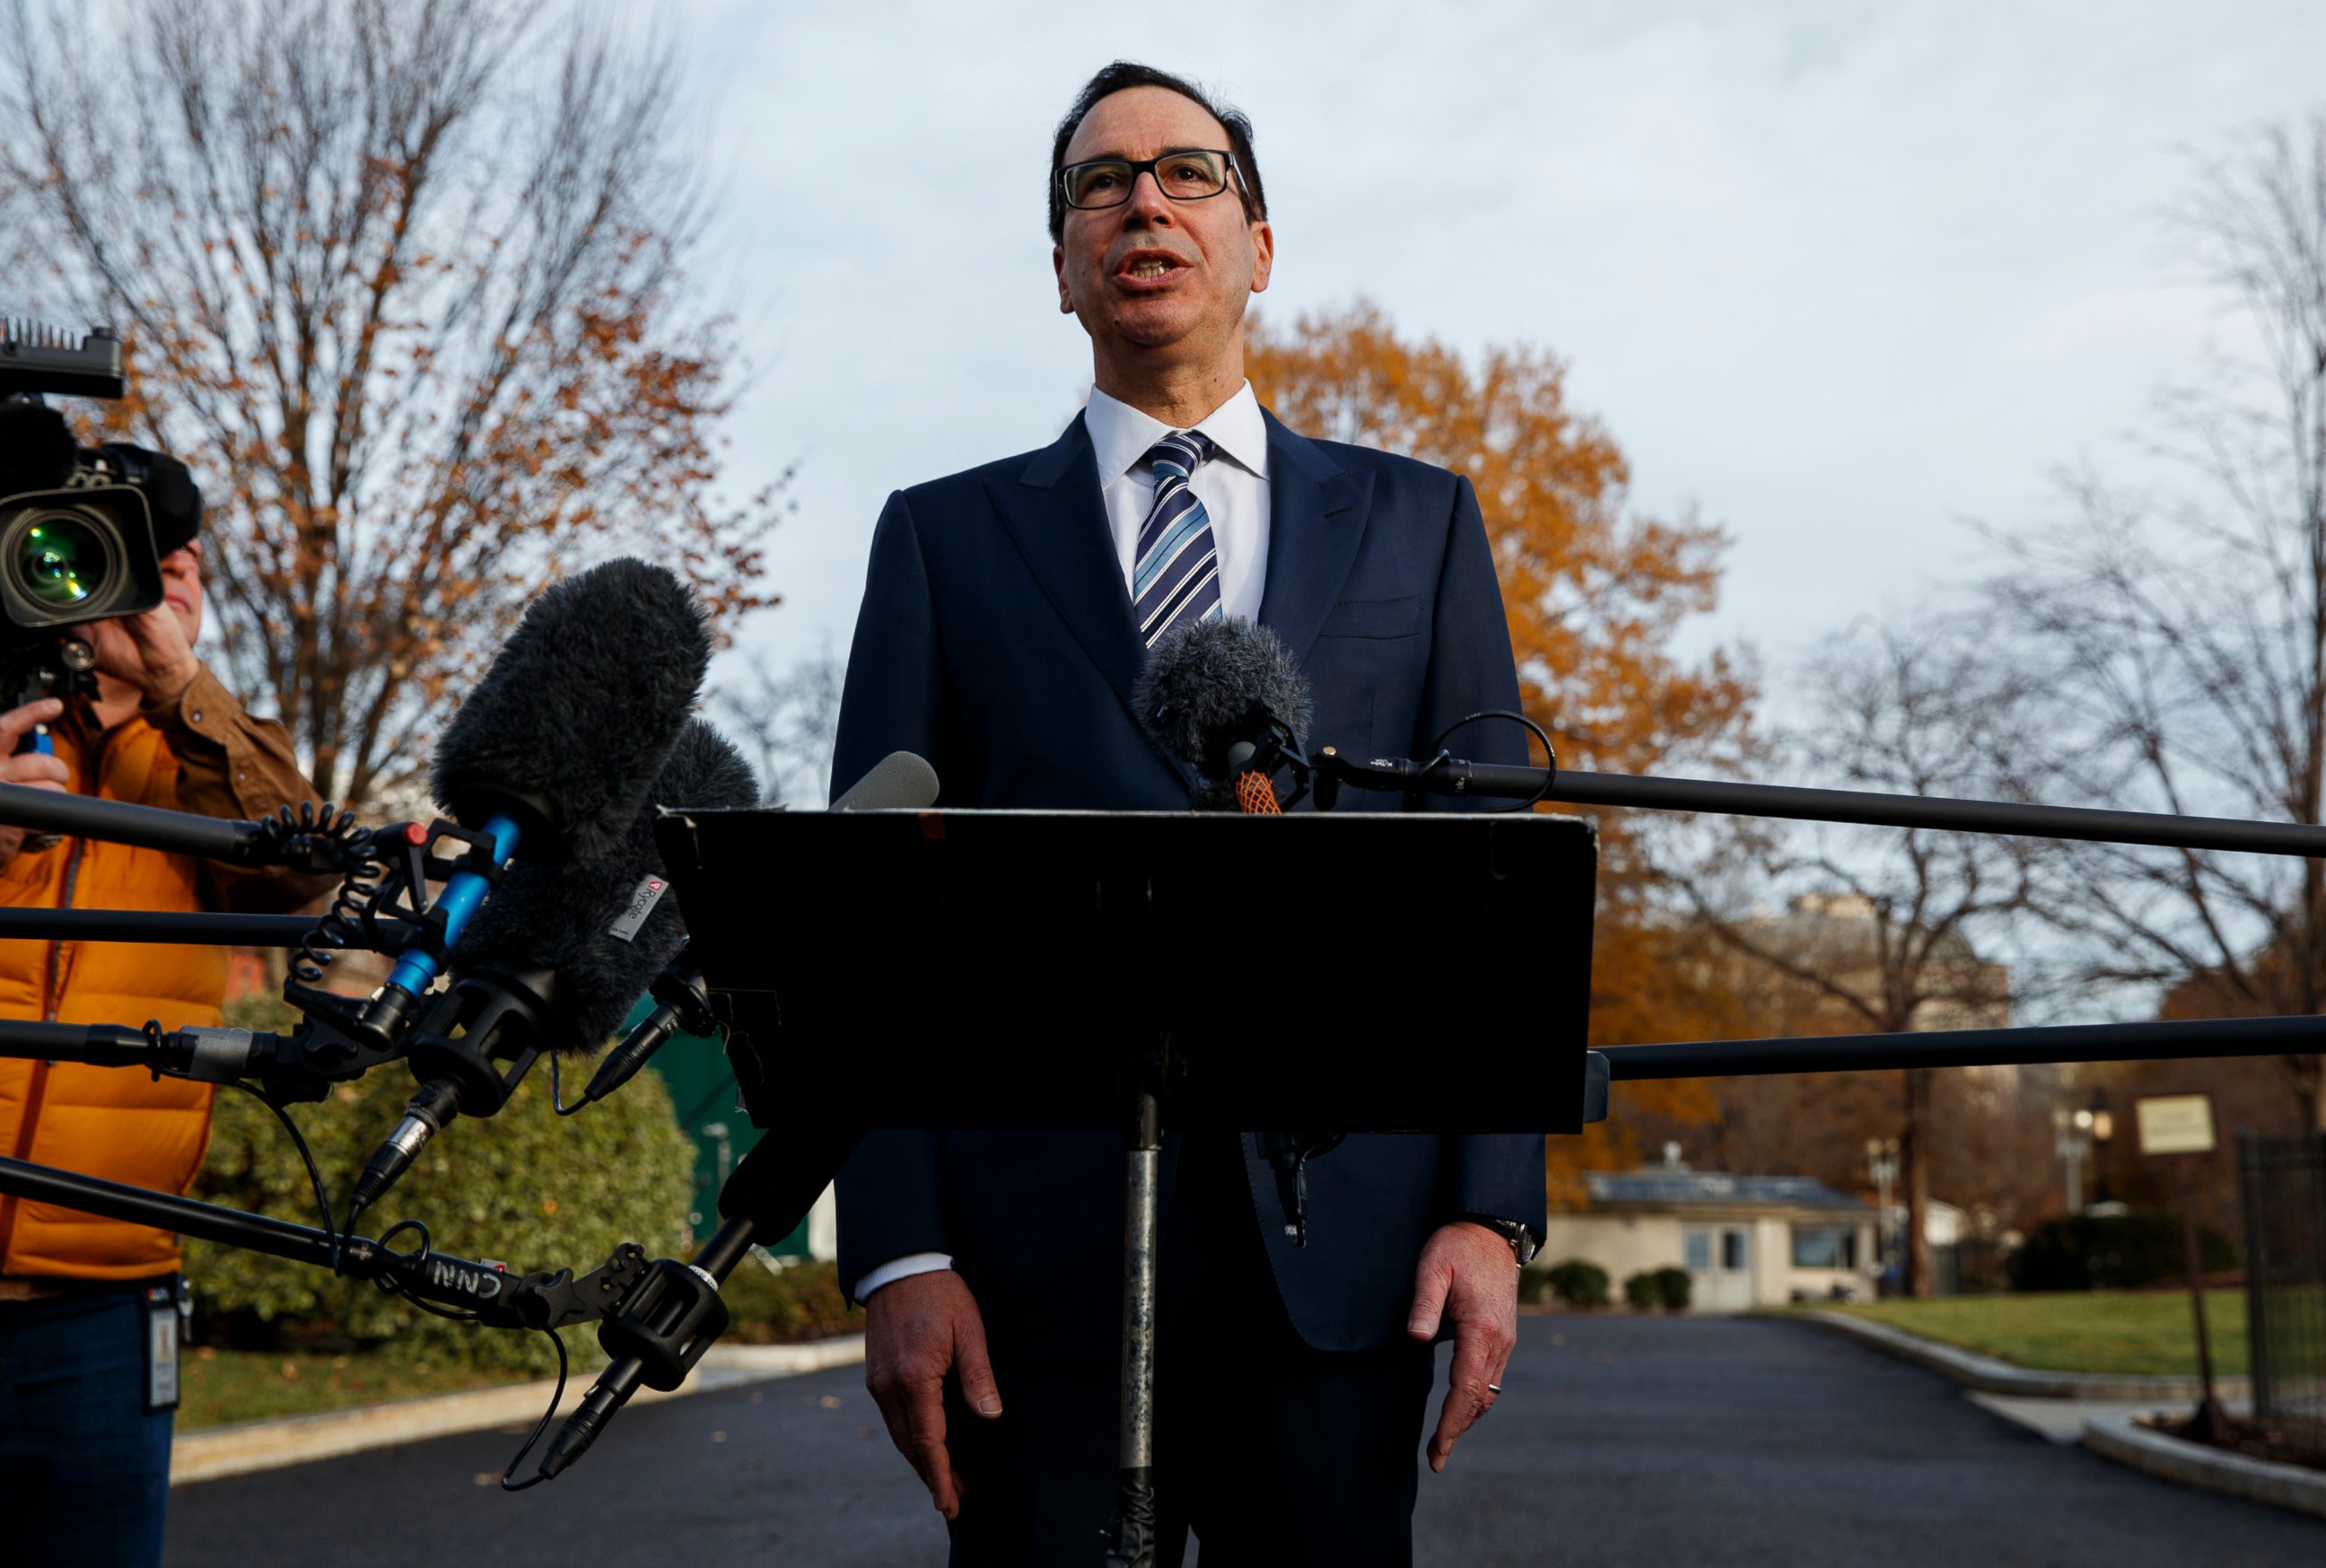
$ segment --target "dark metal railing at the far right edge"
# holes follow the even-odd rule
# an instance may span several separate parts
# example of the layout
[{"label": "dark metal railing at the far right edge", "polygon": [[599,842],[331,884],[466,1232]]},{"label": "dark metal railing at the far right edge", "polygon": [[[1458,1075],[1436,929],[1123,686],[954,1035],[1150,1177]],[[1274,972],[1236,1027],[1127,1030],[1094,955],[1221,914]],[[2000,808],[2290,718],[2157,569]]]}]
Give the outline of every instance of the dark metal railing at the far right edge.
[{"label": "dark metal railing at the far right edge", "polygon": [[2326,1463],[2326,1133],[2238,1135],[2254,1424]]}]

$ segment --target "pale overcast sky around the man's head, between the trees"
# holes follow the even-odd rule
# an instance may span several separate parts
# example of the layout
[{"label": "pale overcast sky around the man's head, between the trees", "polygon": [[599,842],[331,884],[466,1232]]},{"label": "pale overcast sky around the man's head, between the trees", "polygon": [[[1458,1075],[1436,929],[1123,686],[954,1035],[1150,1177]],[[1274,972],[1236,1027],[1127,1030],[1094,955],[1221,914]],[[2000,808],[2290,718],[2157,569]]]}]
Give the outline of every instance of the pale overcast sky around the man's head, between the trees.
[{"label": "pale overcast sky around the man's head, between the trees", "polygon": [[[1817,633],[1977,568],[2233,323],[2163,209],[2189,149],[2326,105],[2326,7],[765,5],[679,14],[744,321],[737,486],[798,463],[777,661],[847,647],[891,489],[1049,442],[1089,389],[1056,314],[1049,133],[1114,56],[1256,123],[1261,309],[1365,295],[1531,342],[1644,512],[1735,540],[1691,642],[1782,682]],[[1151,21],[1144,21],[1151,16]]]}]

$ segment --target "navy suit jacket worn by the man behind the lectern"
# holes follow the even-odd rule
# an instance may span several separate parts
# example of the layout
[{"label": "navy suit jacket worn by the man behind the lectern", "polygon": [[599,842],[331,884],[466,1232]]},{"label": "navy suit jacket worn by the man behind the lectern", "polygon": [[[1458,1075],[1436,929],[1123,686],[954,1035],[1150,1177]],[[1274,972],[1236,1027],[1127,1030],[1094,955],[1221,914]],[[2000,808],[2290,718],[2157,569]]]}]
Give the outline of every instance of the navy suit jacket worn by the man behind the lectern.
[{"label": "navy suit jacket worn by the man behind the lectern", "polygon": [[[1468,479],[1312,442],[1268,416],[1268,498],[1261,621],[1312,684],[1310,744],[1417,756],[1465,714],[1519,707]],[[1130,710],[1142,663],[1077,416],[1042,451],[889,498],[849,654],[833,793],[886,754],[916,751],[949,807],[1186,810],[1193,777]],[[1510,724],[1465,730],[1461,749],[1526,761]],[[1130,968],[1126,954],[1126,977]],[[1312,1014],[1363,1017],[1363,996],[1303,1000]],[[1349,1138],[1310,1163],[1305,1249],[1282,1233],[1275,1182],[1249,1138],[1244,1166],[1286,1317],[1317,1349],[1403,1335],[1414,1259],[1435,1226],[1458,1214],[1544,1226],[1533,1135]],[[907,1252],[949,1252],[996,1354],[1110,1359],[1121,1217],[1119,1138],[872,1133],[840,1175],[840,1270],[854,1282]]]}]

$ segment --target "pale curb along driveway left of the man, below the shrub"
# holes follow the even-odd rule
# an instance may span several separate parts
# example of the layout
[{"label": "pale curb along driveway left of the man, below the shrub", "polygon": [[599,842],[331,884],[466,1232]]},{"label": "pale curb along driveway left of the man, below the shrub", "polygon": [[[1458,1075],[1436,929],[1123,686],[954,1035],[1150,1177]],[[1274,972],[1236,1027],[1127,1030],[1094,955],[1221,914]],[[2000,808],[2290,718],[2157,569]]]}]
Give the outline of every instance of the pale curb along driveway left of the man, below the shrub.
[{"label": "pale curb along driveway left of the man, below the shrub", "polygon": [[[630,1403],[651,1405],[665,1398],[735,1389],[749,1382],[775,1377],[798,1377],[865,1359],[865,1338],[847,1333],[835,1340],[809,1345],[714,1345],[702,1363],[682,1387],[670,1394],[640,1389]],[[212,1426],[181,1435],[170,1449],[170,1484],[212,1482],[254,1470],[279,1470],[340,1454],[421,1442],[426,1438],[449,1438],[491,1426],[526,1426],[542,1417],[554,1377],[542,1382],[507,1384],[500,1389],[470,1389],[468,1394],[435,1394],[428,1398],[405,1398],[391,1405],[363,1405],[358,1410],[326,1410],[321,1414],[298,1414],[279,1421],[244,1421],[240,1426]],[[570,1377],[558,1412],[570,1412],[582,1403],[588,1377]]]}]

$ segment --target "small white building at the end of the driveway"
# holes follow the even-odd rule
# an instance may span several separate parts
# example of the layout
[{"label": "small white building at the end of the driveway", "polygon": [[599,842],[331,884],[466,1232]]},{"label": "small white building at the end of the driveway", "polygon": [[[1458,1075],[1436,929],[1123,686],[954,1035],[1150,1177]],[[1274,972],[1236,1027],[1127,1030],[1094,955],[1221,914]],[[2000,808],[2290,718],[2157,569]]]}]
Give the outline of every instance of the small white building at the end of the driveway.
[{"label": "small white building at the end of the driveway", "polygon": [[1537,1263],[1584,1259],[1624,1280],[1686,1268],[1689,1310],[1742,1312],[1875,1293],[1875,1207],[1810,1177],[1617,1170],[1584,1177],[1591,1203],[1551,1214]]}]

